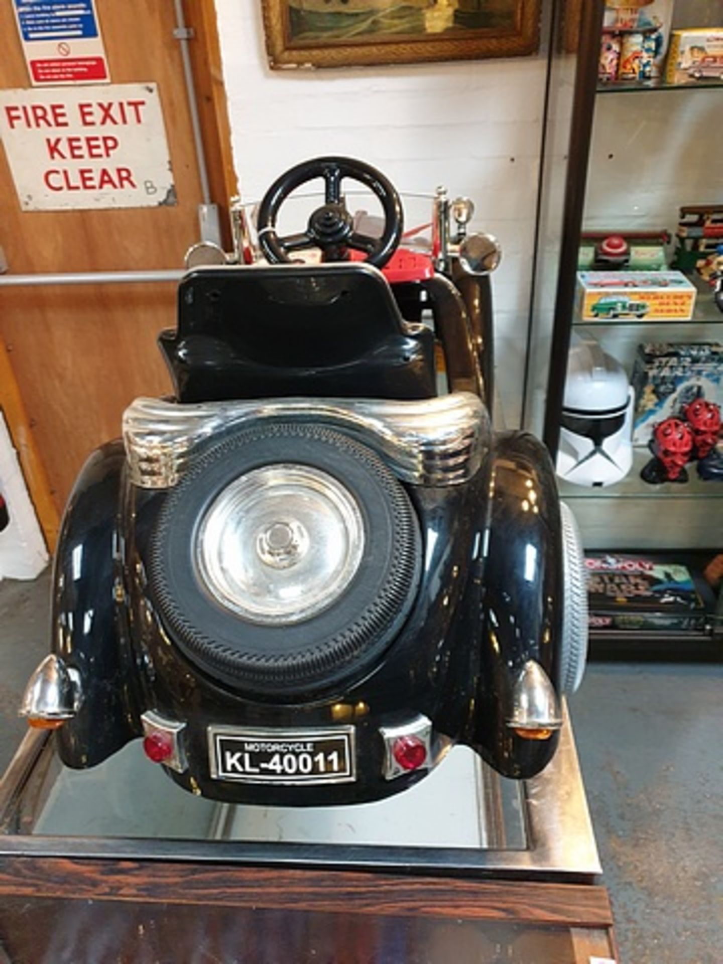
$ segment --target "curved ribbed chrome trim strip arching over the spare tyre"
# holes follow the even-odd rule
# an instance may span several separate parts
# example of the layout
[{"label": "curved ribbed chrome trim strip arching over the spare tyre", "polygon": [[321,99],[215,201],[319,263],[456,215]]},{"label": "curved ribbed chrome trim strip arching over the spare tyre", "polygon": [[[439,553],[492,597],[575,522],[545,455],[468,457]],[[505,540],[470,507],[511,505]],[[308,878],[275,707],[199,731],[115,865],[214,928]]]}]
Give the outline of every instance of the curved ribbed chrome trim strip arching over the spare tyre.
[{"label": "curved ribbed chrome trim strip arching over the spare tyre", "polygon": [[205,439],[259,419],[322,422],[343,428],[384,456],[405,482],[467,482],[490,446],[482,401],[458,391],[423,401],[278,398],[179,404],[137,398],[123,414],[123,442],[134,485],[169,489]]}]

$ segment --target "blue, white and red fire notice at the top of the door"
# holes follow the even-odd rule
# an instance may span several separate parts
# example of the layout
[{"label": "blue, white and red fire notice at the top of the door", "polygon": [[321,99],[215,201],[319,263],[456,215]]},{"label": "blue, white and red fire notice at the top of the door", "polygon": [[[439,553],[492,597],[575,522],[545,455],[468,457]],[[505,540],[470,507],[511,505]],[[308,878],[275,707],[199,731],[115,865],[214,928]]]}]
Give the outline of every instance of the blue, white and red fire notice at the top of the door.
[{"label": "blue, white and red fire notice at the top of the door", "polygon": [[13,0],[34,87],[108,83],[94,0]]}]

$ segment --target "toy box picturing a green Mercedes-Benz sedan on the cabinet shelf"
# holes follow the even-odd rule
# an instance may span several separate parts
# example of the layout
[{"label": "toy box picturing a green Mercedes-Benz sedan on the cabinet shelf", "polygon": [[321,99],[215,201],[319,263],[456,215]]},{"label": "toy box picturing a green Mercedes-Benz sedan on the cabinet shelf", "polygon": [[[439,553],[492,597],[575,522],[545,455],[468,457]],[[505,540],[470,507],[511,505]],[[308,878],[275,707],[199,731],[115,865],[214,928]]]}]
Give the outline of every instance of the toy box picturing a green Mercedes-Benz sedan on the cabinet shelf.
[{"label": "toy box picturing a green Mercedes-Benz sedan on the cabinet shelf", "polygon": [[579,271],[579,317],[583,321],[688,321],[695,285],[680,271]]}]

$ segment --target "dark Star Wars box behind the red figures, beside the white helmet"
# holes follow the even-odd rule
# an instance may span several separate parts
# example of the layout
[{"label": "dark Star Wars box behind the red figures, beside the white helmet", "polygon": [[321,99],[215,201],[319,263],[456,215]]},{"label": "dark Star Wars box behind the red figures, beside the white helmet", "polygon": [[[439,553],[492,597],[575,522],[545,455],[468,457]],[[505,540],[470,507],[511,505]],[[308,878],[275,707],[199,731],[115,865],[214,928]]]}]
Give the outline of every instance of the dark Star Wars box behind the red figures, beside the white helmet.
[{"label": "dark Star Wars box behind the red figures, beside the white helmet", "polygon": [[679,415],[699,395],[723,405],[723,345],[638,345],[630,384],[635,391],[632,442],[647,445],[657,422]]}]

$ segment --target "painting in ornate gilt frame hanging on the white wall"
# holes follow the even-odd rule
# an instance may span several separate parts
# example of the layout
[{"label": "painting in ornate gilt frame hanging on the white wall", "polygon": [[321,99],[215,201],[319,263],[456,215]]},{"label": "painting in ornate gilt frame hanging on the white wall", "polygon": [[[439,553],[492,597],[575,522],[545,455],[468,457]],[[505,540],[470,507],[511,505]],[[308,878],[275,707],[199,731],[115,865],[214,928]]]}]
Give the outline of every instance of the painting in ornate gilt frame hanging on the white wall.
[{"label": "painting in ornate gilt frame hanging on the white wall", "polygon": [[271,67],[534,53],[541,0],[261,0]]}]

